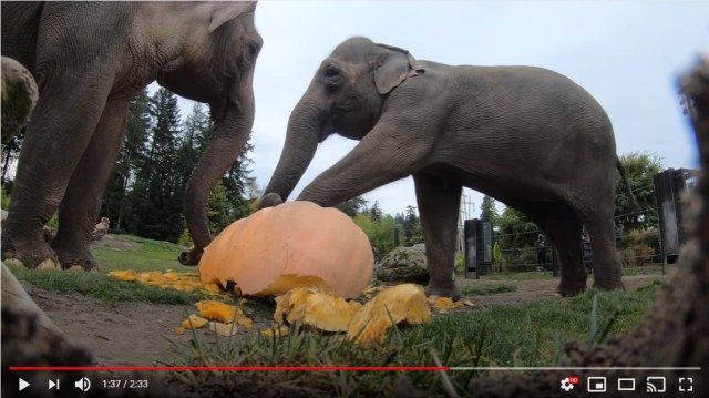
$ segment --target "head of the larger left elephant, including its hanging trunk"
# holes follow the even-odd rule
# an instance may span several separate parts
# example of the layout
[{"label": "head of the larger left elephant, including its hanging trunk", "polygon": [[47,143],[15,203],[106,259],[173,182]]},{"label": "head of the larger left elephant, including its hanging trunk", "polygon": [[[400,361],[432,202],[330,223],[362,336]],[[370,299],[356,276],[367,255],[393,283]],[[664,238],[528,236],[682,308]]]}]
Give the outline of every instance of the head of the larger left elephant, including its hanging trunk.
[{"label": "head of the larger left elephant, including its hanging trunk", "polygon": [[[206,205],[209,193],[242,152],[254,124],[254,69],[263,39],[254,25],[256,2],[191,4],[194,18],[206,21],[188,37],[186,54],[164,64],[157,82],[178,95],[209,104],[214,131],[194,170],[183,212],[194,242],[179,256],[197,265],[212,242]],[[186,7],[186,6],[185,6]]]}]

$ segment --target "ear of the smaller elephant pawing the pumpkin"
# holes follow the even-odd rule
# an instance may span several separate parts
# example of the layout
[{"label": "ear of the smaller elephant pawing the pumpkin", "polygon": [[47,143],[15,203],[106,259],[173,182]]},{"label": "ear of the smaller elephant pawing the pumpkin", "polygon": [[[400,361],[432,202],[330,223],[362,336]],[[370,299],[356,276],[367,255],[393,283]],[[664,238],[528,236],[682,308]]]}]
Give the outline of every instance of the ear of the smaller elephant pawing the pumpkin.
[{"label": "ear of the smaller elephant pawing the pumpkin", "polygon": [[382,50],[373,62],[374,84],[379,94],[388,94],[404,80],[425,72],[409,51],[386,44],[377,47]]}]

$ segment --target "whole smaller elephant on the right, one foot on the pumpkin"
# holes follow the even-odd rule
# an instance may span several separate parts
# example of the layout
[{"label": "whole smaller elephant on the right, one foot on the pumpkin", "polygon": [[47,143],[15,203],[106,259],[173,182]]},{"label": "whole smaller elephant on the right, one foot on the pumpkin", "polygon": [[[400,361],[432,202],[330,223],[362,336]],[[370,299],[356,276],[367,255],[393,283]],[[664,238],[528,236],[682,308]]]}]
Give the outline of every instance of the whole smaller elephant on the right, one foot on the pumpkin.
[{"label": "whole smaller elephant on the right, one foot on the pumpkin", "polygon": [[582,223],[594,286],[623,288],[614,241],[615,139],[600,105],[567,78],[531,67],[451,67],[352,38],[322,61],[294,109],[260,206],[287,198],[318,143],[360,143],[298,196],[332,206],[412,175],[428,294],[458,298],[452,280],[462,186],[526,213],[558,249],[558,293],[586,288]]}]

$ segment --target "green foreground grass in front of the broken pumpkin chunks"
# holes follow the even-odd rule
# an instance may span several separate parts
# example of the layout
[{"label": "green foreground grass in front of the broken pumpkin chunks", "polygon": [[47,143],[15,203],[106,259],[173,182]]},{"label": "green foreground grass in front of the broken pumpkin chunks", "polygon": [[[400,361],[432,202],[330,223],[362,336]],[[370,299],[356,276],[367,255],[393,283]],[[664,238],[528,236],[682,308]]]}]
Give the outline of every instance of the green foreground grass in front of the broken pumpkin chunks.
[{"label": "green foreground grass in front of the broken pumpkin chunks", "polygon": [[[224,338],[208,345],[195,335],[179,347],[182,363],[210,366],[553,366],[568,340],[597,344],[638,325],[659,283],[637,292],[588,292],[569,299],[496,306],[446,314],[431,324],[397,328],[384,344],[361,346],[342,336],[323,335],[297,326],[282,338],[255,336],[232,344]],[[450,371],[456,391],[464,391],[477,371]],[[254,374],[254,378],[261,377]],[[284,373],[281,382],[335,391],[335,396],[391,396],[400,373],[322,371]],[[429,394],[442,390],[439,373],[408,373],[414,386]]]}]

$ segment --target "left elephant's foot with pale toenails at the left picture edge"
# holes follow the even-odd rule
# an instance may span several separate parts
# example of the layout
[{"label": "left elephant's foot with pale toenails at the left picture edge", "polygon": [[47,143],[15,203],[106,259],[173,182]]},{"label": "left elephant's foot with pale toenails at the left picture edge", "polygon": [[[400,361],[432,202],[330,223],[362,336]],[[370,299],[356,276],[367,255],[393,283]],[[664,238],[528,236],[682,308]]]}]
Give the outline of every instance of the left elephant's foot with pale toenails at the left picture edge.
[{"label": "left elephant's foot with pale toenails at the left picture edge", "polygon": [[54,251],[43,241],[21,243],[18,239],[2,237],[2,261],[12,266],[30,269],[61,269],[61,263]]}]

